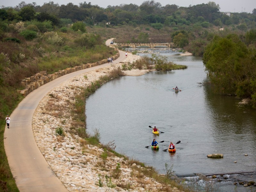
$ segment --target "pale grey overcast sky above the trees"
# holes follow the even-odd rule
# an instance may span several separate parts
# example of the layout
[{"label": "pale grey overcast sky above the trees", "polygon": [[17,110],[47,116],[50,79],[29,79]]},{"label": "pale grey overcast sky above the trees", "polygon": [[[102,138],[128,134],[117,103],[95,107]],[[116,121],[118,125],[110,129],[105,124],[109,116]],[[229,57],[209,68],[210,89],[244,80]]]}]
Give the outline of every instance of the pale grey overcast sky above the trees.
[{"label": "pale grey overcast sky above the trees", "polygon": [[[3,5],[5,7],[11,6],[15,7],[18,5],[22,0],[0,0],[0,6]],[[36,2],[37,5],[43,5],[44,3],[48,3],[50,0],[23,0],[25,3],[32,3]],[[59,5],[66,5],[68,3],[73,3],[75,5],[79,5],[79,3],[83,3],[84,0],[51,0],[55,4]],[[100,7],[106,8],[108,5],[116,6],[120,4],[136,4],[141,5],[145,0],[89,0],[85,1],[86,3],[91,2],[92,5],[99,5]],[[211,0],[213,1],[213,0]],[[159,2],[162,6],[166,4],[176,4],[179,7],[188,7],[189,5],[196,5],[196,4],[207,4],[209,0],[155,0],[155,2]],[[253,9],[256,9],[256,0],[215,0],[213,1],[216,4],[220,5],[220,12],[248,12],[252,13]]]}]

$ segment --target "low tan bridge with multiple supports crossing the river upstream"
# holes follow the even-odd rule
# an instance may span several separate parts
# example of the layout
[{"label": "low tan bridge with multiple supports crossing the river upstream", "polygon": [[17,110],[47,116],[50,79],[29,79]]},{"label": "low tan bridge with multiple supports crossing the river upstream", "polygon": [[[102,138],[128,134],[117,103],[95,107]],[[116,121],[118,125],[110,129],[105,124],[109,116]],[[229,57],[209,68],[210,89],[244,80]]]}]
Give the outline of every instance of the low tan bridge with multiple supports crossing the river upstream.
[{"label": "low tan bridge with multiple supports crossing the river upstream", "polygon": [[120,47],[129,47],[129,48],[174,48],[173,43],[119,43],[116,44]]}]

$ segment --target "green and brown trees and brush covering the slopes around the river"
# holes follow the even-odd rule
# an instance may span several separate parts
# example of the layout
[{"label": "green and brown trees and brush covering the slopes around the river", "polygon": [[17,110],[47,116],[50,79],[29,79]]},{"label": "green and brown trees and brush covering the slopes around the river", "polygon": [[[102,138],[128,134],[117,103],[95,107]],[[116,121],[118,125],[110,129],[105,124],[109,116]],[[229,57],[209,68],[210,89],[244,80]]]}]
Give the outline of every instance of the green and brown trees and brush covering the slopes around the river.
[{"label": "green and brown trees and brush covering the slopes around the river", "polygon": [[[91,3],[74,5],[21,2],[0,9],[0,186],[18,191],[4,152],[6,114],[22,100],[20,81],[40,71],[48,74],[114,55],[104,41],[168,43],[204,56],[216,91],[250,98],[256,108],[256,9],[222,13],[214,2],[179,7],[155,1],[106,9]],[[4,186],[4,187],[3,187]],[[0,190],[0,191],[1,191]]]}]

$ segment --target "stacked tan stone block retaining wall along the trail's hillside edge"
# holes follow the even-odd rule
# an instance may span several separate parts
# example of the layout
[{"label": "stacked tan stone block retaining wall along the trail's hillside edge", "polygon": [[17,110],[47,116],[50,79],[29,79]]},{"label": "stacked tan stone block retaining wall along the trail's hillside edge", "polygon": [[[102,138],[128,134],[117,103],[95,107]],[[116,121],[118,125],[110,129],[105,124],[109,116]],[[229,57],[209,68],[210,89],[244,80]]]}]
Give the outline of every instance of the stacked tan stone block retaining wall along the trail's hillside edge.
[{"label": "stacked tan stone block retaining wall along the trail's hillside edge", "polygon": [[[119,52],[113,56],[113,59],[116,60],[119,57]],[[53,74],[47,74],[47,71],[41,71],[39,73],[36,73],[33,76],[27,77],[21,81],[21,86],[25,86],[25,89],[18,90],[20,94],[22,94],[24,97],[26,97],[30,92],[34,91],[38,87],[58,78],[63,75],[67,75],[69,73],[79,71],[86,68],[95,67],[98,65],[102,65],[104,63],[107,63],[108,60],[104,59],[101,61],[97,61],[95,63],[87,63],[87,64],[81,64],[80,66],[75,66],[73,68],[66,68],[63,70],[59,70],[58,72],[55,72]]]}]

